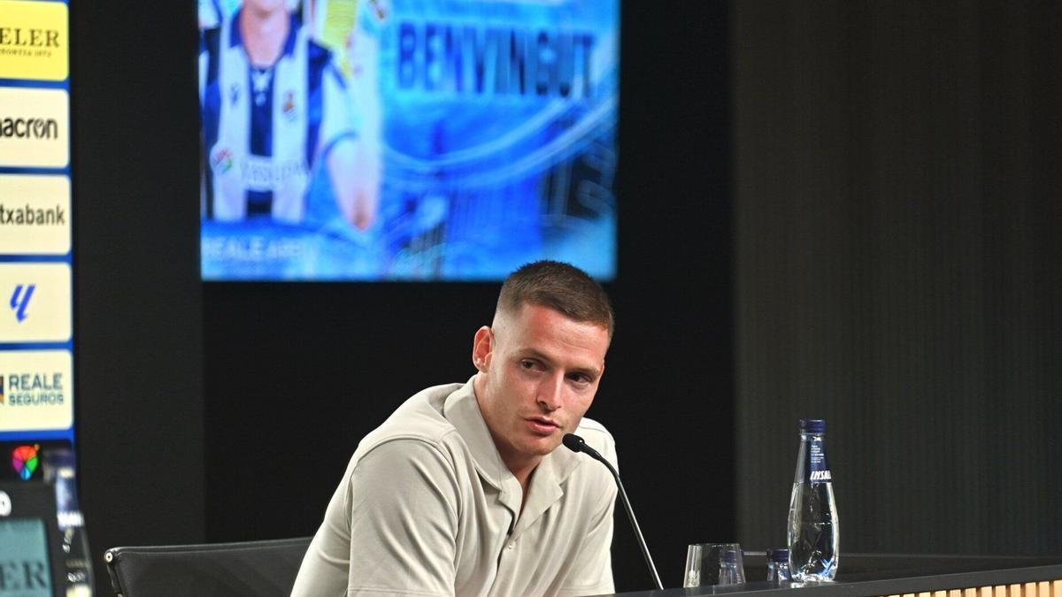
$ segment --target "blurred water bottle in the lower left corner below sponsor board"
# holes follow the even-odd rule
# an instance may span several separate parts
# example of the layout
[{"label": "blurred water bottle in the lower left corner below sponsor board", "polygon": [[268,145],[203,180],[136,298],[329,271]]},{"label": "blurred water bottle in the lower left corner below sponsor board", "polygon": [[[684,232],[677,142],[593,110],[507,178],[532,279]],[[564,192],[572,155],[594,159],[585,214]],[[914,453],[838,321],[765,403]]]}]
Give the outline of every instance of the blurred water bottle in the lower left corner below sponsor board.
[{"label": "blurred water bottle in the lower left corner below sponsor board", "polygon": [[92,557],[85,534],[85,518],[78,507],[78,479],[73,453],[50,449],[45,453],[45,481],[55,485],[56,516],[63,534],[66,558],[67,597],[92,596]]}]

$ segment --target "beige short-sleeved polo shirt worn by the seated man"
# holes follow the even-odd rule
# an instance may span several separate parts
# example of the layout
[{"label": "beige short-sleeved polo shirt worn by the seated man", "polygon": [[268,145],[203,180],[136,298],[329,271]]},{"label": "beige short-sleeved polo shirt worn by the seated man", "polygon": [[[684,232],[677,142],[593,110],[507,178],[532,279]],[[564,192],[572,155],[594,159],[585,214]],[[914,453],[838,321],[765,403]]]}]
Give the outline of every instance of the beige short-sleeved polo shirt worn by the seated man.
[{"label": "beige short-sleeved polo shirt worn by the seated man", "polygon": [[[612,436],[586,443],[616,465]],[[473,385],[428,388],[365,436],[303,560],[293,597],[613,593],[616,485],[560,447],[520,484],[498,455]]]}]

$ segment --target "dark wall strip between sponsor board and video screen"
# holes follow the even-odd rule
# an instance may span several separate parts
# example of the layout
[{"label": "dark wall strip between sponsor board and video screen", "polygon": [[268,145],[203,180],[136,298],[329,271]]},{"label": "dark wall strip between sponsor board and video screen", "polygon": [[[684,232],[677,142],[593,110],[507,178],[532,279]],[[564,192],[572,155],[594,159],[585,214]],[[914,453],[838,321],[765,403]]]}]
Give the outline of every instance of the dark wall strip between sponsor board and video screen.
[{"label": "dark wall strip between sponsor board and video screen", "polygon": [[195,14],[70,11],[81,498],[110,595],[104,549],[205,538]]}]

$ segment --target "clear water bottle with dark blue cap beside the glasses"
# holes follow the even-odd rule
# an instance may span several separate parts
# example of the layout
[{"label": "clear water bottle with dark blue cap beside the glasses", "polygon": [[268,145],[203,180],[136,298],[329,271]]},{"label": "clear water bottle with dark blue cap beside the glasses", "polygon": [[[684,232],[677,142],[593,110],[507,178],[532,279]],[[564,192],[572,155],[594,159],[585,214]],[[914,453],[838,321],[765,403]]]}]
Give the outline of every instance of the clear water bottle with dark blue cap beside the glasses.
[{"label": "clear water bottle with dark blue cap beside the glasses", "polygon": [[802,419],[800,456],[789,498],[789,569],[798,582],[832,581],[840,555],[840,525],[826,464],[826,422]]}]

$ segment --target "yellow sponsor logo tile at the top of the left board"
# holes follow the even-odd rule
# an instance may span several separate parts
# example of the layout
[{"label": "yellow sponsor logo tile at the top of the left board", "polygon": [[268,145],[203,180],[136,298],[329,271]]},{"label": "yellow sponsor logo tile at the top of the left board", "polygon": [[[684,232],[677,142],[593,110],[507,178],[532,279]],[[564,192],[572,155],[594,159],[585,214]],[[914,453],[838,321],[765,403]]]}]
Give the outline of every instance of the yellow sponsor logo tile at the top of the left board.
[{"label": "yellow sponsor logo tile at the top of the left board", "polygon": [[67,78],[70,37],[65,3],[0,0],[0,78]]}]

